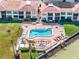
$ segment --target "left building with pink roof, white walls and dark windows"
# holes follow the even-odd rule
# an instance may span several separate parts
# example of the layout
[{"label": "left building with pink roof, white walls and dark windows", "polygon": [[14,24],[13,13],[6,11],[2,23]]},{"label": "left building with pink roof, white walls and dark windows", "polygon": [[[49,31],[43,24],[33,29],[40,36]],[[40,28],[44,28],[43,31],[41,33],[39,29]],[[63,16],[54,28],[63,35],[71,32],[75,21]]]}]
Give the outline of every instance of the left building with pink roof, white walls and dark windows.
[{"label": "left building with pink roof, white walls and dark windows", "polygon": [[37,2],[33,1],[1,1],[0,18],[37,18],[37,8]]}]

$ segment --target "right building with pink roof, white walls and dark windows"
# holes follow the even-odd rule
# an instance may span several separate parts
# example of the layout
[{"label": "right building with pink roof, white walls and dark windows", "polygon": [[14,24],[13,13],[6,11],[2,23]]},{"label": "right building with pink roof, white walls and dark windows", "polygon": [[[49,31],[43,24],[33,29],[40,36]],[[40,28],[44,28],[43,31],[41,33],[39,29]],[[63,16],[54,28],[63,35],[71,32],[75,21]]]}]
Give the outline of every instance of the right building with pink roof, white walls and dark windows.
[{"label": "right building with pink roof, white walls and dark windows", "polygon": [[72,4],[69,2],[59,3],[54,5],[53,3],[48,5],[42,5],[41,7],[41,19],[47,21],[72,20],[79,21],[79,4]]}]

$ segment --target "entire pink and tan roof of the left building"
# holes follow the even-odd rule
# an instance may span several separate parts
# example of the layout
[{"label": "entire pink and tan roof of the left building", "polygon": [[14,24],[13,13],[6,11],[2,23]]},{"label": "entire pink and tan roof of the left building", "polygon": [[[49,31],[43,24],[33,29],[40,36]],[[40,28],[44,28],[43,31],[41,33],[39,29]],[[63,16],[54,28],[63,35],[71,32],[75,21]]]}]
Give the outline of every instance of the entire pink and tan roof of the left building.
[{"label": "entire pink and tan roof of the left building", "polygon": [[[26,1],[1,1],[0,2],[0,10],[6,11],[15,11],[15,10],[22,10],[22,11],[37,11],[38,4],[36,1],[32,1],[30,4],[26,4]],[[2,8],[3,7],[3,8]]]}]

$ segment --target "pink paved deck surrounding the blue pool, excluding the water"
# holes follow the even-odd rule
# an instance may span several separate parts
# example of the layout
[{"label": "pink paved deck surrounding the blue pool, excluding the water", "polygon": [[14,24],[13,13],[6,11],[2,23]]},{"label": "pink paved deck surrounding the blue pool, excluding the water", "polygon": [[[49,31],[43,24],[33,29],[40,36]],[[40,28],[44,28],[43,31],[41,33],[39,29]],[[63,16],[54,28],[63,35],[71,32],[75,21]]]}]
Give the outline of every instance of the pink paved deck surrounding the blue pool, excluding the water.
[{"label": "pink paved deck surrounding the blue pool, excluding the water", "polygon": [[[53,35],[49,36],[49,37],[33,37],[32,39],[34,39],[35,43],[34,43],[34,47],[37,50],[46,50],[49,47],[55,45],[57,43],[57,41],[55,41],[55,39],[57,39],[57,37],[59,36],[65,36],[64,33],[64,29],[62,26],[60,25],[43,25],[43,24],[22,24],[22,28],[23,28],[23,34],[26,35],[26,38],[29,38],[29,31],[31,29],[47,29],[47,28],[51,28],[53,30]],[[61,40],[62,42],[62,40]],[[43,44],[42,48],[40,48],[40,44]]]}]

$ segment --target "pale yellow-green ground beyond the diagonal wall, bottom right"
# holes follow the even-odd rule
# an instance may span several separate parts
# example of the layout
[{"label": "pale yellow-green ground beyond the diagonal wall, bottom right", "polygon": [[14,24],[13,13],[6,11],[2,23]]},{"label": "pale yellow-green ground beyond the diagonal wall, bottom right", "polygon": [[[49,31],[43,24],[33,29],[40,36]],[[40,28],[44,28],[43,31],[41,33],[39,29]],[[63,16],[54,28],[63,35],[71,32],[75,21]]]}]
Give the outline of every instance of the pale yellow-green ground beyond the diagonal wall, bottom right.
[{"label": "pale yellow-green ground beyond the diagonal wall, bottom right", "polygon": [[79,39],[49,59],[79,59]]}]

